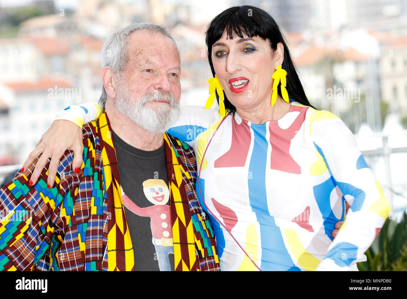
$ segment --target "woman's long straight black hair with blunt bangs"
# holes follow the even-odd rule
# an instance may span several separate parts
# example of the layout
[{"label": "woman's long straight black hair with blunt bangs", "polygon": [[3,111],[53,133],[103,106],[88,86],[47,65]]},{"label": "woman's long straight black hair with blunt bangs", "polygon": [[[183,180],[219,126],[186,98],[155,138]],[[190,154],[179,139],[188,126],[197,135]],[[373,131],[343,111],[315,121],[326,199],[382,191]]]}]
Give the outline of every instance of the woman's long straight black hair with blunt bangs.
[{"label": "woman's long straight black hair with blunt bangs", "polygon": [[[313,107],[305,95],[281,30],[271,15],[258,7],[244,5],[231,7],[214,17],[206,30],[206,46],[208,47],[209,65],[213,76],[215,76],[215,70],[212,63],[212,45],[222,37],[225,31],[230,39],[233,38],[233,35],[240,38],[243,38],[243,34],[248,37],[259,36],[269,41],[273,51],[277,49],[277,44],[281,42],[284,45],[284,61],[281,68],[287,71],[286,89],[289,98],[302,105]],[[280,87],[277,90],[278,95],[282,98]],[[219,104],[219,97],[217,97],[217,100]],[[226,110],[230,112],[236,111],[236,107],[229,102],[226,95],[224,103]]]}]

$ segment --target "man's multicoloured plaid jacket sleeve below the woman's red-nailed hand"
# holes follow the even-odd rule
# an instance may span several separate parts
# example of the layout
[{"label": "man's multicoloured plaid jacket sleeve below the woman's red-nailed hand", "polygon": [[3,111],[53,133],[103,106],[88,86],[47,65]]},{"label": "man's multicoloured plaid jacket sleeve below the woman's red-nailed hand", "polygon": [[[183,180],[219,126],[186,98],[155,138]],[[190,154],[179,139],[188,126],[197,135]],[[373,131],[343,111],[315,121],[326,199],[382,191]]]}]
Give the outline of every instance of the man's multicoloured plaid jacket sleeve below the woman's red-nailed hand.
[{"label": "man's multicoloured plaid jacket sleeve below the woman's red-nailed hand", "polygon": [[57,259],[51,249],[58,246],[70,223],[72,198],[82,173],[74,172],[72,160],[73,152],[66,151],[50,189],[49,160],[37,183],[29,185],[38,158],[0,189],[0,271],[32,271],[40,260],[41,267],[48,268]]}]

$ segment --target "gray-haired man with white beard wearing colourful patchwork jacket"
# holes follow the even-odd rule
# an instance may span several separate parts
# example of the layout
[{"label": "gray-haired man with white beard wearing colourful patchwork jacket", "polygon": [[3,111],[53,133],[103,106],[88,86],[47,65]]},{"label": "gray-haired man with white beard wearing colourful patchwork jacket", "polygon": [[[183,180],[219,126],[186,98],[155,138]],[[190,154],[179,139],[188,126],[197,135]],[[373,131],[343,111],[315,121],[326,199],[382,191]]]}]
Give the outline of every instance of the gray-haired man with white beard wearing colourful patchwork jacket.
[{"label": "gray-haired man with white beard wearing colourful patchwork jacket", "polygon": [[0,190],[0,270],[219,270],[194,153],[165,133],[179,117],[175,41],[131,24],[107,39],[102,66],[104,113],[75,120],[83,147],[40,155]]}]

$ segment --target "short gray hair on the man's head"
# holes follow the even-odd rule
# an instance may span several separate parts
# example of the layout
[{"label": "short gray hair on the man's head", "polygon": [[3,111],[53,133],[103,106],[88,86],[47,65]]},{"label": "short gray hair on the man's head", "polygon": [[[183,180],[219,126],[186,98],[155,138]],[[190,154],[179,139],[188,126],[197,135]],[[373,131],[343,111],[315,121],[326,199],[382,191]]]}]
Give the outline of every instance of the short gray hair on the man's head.
[{"label": "short gray hair on the man's head", "polygon": [[[109,66],[112,68],[114,74],[120,78],[120,72],[123,72],[125,65],[129,59],[128,57],[128,42],[129,42],[129,35],[133,31],[137,31],[140,29],[149,30],[156,33],[161,33],[162,35],[169,37],[175,44],[175,47],[179,49],[177,44],[175,43],[174,38],[168,32],[168,28],[165,25],[158,25],[152,23],[133,23],[125,28],[122,28],[112,35],[105,41],[102,47],[102,68],[105,66]],[[99,105],[105,109],[107,101],[107,94],[105,90],[105,86],[102,85],[102,95],[99,98]]]}]

